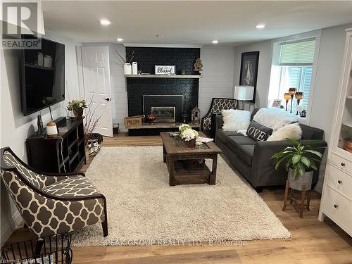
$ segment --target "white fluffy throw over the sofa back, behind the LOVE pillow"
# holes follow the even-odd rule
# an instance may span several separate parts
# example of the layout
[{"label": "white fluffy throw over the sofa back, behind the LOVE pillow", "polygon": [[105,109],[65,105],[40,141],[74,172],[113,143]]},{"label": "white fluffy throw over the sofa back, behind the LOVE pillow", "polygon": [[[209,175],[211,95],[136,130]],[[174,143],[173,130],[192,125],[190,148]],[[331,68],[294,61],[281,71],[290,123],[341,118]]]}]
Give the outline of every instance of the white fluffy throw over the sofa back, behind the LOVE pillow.
[{"label": "white fluffy throw over the sofa back, behind the LOVE pillow", "polygon": [[297,122],[296,115],[290,115],[277,108],[260,108],[256,115],[254,115],[253,120],[260,125],[272,128],[273,131],[278,130],[284,125]]}]

